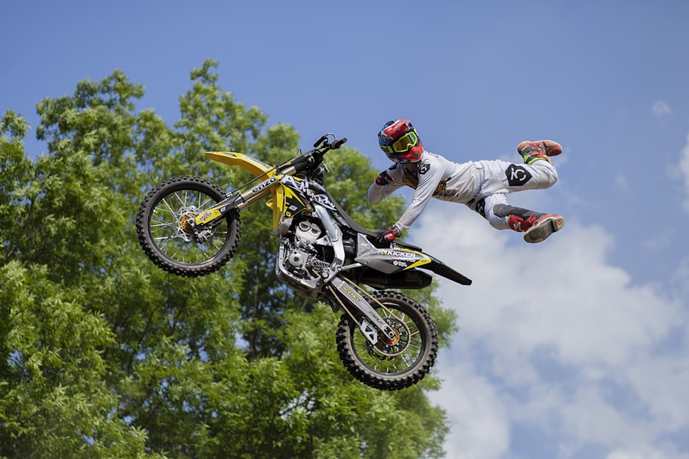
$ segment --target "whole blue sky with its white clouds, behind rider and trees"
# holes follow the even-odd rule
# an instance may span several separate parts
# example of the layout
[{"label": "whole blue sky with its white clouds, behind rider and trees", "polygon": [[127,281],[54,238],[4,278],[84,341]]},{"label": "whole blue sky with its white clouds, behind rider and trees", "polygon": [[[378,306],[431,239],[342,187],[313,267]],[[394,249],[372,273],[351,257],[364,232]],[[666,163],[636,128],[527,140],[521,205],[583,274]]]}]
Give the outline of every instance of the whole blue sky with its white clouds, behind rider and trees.
[{"label": "whole blue sky with its white clouds, behind rider and trees", "polygon": [[409,232],[474,279],[440,281],[462,328],[437,364],[448,457],[689,458],[689,3],[6,3],[0,111],[33,129],[39,100],[116,68],[172,124],[214,58],[302,147],[332,131],[380,169],[393,118],[457,162],[559,141],[559,182],[510,197],[564,215],[546,242],[444,202]]}]

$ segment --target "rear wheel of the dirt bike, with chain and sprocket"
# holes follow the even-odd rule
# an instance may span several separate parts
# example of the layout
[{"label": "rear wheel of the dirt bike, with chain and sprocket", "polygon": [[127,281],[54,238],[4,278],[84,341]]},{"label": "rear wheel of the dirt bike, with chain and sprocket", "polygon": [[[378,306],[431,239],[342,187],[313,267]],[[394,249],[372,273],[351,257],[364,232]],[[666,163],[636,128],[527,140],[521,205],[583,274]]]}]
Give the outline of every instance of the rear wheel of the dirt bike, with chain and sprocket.
[{"label": "rear wheel of the dirt bike, with chain and sprocket", "polygon": [[433,320],[423,306],[402,293],[382,290],[371,296],[369,303],[397,336],[393,340],[379,337],[373,345],[344,314],[337,333],[342,363],[352,376],[376,389],[397,390],[418,383],[438,354]]}]

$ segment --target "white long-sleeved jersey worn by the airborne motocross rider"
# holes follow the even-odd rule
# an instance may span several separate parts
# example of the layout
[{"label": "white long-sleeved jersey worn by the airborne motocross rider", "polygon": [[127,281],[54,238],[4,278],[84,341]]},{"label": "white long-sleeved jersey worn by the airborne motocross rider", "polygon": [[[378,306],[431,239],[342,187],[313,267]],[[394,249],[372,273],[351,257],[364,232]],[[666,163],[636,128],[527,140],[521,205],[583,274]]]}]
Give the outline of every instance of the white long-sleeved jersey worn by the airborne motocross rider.
[{"label": "white long-sleeved jersey worn by the airborne motocross rider", "polygon": [[466,204],[476,195],[476,168],[473,162],[457,163],[424,151],[418,164],[416,173],[407,170],[404,164],[393,164],[388,169],[393,182],[384,186],[374,182],[369,187],[369,202],[372,204],[380,202],[404,185],[416,190],[407,211],[394,225],[398,234],[411,226],[431,198]]}]

